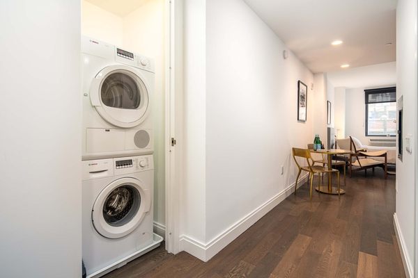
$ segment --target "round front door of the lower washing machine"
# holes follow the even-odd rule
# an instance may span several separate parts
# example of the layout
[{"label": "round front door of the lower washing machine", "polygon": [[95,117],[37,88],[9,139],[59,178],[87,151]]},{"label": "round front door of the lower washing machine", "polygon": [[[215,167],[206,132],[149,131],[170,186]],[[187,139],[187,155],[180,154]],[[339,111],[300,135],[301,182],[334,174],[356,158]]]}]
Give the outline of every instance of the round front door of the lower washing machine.
[{"label": "round front door of the lower washing machine", "polygon": [[95,199],[93,226],[105,238],[121,238],[138,227],[150,210],[149,190],[133,178],[117,179]]}]

